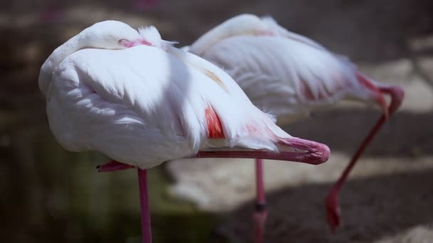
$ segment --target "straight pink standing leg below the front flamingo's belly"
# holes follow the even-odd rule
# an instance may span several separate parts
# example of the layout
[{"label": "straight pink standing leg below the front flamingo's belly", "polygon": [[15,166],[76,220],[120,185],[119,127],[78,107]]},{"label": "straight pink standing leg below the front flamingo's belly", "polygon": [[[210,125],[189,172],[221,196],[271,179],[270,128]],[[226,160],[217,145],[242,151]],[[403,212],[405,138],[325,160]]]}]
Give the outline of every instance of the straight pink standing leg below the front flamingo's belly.
[{"label": "straight pink standing leg below the front flamingo's belly", "polygon": [[147,170],[137,168],[138,185],[140,188],[142,243],[152,243],[152,228],[150,226],[149,195],[147,193]]}]

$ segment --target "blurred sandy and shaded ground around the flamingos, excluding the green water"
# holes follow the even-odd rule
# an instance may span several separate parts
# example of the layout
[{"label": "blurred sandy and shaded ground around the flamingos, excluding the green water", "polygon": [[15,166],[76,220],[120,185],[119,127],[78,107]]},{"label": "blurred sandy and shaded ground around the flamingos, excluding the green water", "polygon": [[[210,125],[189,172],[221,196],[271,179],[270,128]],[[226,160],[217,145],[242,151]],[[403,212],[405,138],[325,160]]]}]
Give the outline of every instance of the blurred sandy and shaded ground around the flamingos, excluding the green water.
[{"label": "blurred sandy and shaded ground around the flamingos, excluding the green water", "polygon": [[[61,18],[41,21],[46,4]],[[20,124],[45,121],[36,79],[53,48],[85,26],[118,19],[153,24],[167,40],[191,43],[238,13],[270,14],[283,26],[348,55],[381,82],[405,88],[400,112],[362,157],[340,202],[343,228],[330,234],[323,197],[365,132],[377,109],[341,104],[285,129],[328,144],[322,166],[266,162],[268,242],[433,242],[433,18],[432,1],[164,1],[153,11],[133,1],[14,1],[0,6],[1,114],[18,111]],[[26,107],[26,109],[22,109]],[[2,116],[8,117],[8,116]],[[16,126],[14,117],[1,127]],[[251,242],[254,183],[251,160],[172,161],[172,194],[224,215],[219,232],[232,242]]]}]

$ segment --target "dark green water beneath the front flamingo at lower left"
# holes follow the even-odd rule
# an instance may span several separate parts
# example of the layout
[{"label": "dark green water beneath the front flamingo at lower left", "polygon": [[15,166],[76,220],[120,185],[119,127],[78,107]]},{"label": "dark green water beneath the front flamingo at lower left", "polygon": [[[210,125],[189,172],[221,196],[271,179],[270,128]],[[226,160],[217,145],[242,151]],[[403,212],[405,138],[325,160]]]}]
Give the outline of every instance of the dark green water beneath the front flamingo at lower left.
[{"label": "dark green water beneath the front flamingo at lower left", "polygon": [[[98,173],[103,155],[65,151],[46,125],[3,120],[1,242],[140,242],[135,170]],[[149,183],[155,242],[223,242],[214,215],[167,193],[162,167]]]}]

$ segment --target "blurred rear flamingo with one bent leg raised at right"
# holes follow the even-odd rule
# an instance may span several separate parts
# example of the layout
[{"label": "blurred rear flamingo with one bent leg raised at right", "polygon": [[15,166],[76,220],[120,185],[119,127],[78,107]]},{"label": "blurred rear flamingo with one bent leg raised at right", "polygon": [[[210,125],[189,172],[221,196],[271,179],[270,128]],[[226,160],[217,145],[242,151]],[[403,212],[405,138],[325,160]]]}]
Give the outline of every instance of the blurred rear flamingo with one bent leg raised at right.
[{"label": "blurred rear flamingo with one bent leg raised at right", "polygon": [[[338,193],[348,174],[380,126],[400,107],[402,88],[385,85],[362,75],[348,58],[331,53],[309,38],[287,31],[271,17],[242,14],[230,18],[201,36],[184,50],[224,68],[258,107],[276,114],[278,124],[288,124],[313,109],[342,99],[378,104],[382,117],[362,141],[345,171],[325,198],[331,230],[340,226]],[[383,95],[390,95],[387,106]],[[256,240],[263,238],[267,212],[263,165],[256,161]]]}]

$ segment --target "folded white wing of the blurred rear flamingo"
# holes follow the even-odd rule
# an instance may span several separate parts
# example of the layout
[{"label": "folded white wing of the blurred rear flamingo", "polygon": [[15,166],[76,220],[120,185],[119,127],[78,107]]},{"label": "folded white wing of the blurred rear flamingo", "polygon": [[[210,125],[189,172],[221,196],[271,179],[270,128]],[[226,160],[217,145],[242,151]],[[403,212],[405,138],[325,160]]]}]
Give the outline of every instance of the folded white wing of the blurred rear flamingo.
[{"label": "folded white wing of the blurred rear flamingo", "polygon": [[353,69],[329,52],[276,36],[225,39],[203,56],[233,77],[257,106],[277,117],[305,117],[356,86]]}]

